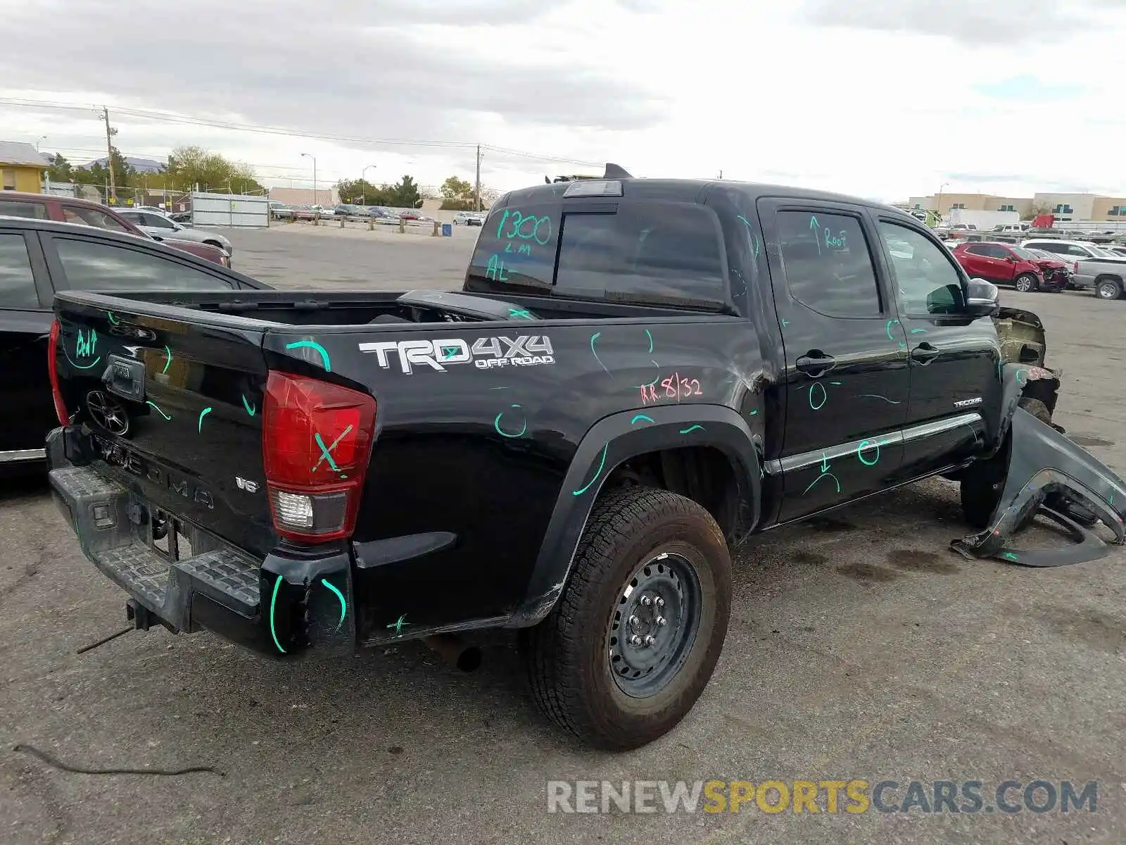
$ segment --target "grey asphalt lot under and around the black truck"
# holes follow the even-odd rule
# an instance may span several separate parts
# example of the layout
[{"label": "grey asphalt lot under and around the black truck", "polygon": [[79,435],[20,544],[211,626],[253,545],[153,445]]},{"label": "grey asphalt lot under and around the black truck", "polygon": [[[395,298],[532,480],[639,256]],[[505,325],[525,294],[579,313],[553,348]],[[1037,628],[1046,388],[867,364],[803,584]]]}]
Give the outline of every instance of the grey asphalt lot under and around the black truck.
[{"label": "grey asphalt lot under and around the black truck", "polygon": [[[278,226],[232,232],[279,286],[454,287],[452,239]],[[1126,302],[1038,312],[1065,371],[1056,420],[1126,473]],[[1121,843],[1123,551],[1033,571],[968,562],[957,489],[932,480],[749,542],[716,674],[673,732],[608,755],[531,706],[513,642],[475,674],[404,643],[345,661],[256,658],[211,634],[131,633],[124,595],[75,550],[42,482],[0,491],[0,840],[6,843]],[[181,768],[176,776],[73,767]],[[1098,810],[1035,815],[548,813],[548,780],[1098,781]],[[928,789],[929,791],[929,789]],[[1013,792],[1013,798],[1019,793]],[[962,803],[960,801],[958,803]],[[824,800],[822,799],[822,807]]]}]

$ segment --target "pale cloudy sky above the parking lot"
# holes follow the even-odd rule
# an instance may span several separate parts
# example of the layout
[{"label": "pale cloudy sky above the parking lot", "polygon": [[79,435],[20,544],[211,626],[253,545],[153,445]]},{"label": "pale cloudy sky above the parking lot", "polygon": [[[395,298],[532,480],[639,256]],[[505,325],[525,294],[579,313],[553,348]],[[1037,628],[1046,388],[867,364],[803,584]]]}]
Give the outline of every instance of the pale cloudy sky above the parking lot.
[{"label": "pale cloudy sky above the parking lot", "polygon": [[[0,137],[267,184],[598,172],[1126,195],[1123,0],[0,0]],[[80,109],[3,105],[3,99]],[[115,113],[115,108],[118,110]],[[153,121],[128,110],[350,141]],[[445,145],[388,144],[427,141]],[[461,146],[458,144],[465,144]],[[516,152],[512,152],[516,151]],[[528,153],[528,154],[516,154]],[[530,154],[530,155],[529,155]],[[537,160],[535,155],[549,157]]]}]

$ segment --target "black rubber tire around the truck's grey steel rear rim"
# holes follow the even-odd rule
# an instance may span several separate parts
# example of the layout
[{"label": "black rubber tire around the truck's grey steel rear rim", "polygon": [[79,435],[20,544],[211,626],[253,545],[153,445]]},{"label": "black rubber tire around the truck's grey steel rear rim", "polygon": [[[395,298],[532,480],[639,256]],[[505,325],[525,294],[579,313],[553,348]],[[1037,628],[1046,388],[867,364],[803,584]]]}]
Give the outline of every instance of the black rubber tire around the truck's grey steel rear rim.
[{"label": "black rubber tire around the truck's grey steel rear rim", "polygon": [[[687,559],[699,586],[695,640],[679,670],[647,697],[631,697],[610,671],[607,638],[633,573],[661,552]],[[627,750],[663,736],[695,705],[723,649],[731,615],[731,555],[715,519],[691,499],[645,487],[595,505],[552,612],[525,632],[537,706],[587,744]]]}]

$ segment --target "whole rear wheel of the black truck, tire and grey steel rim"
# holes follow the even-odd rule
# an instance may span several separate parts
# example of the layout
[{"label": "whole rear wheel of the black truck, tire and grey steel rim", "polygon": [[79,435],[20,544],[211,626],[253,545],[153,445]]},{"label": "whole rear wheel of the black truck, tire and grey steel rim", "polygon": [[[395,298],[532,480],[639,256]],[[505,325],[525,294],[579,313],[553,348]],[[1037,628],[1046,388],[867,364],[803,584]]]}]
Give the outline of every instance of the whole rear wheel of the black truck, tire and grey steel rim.
[{"label": "whole rear wheel of the black truck, tire and grey steel rim", "polygon": [[731,555],[711,514],[667,490],[611,491],[563,595],[526,632],[536,703],[599,748],[651,742],[704,691],[730,613]]}]

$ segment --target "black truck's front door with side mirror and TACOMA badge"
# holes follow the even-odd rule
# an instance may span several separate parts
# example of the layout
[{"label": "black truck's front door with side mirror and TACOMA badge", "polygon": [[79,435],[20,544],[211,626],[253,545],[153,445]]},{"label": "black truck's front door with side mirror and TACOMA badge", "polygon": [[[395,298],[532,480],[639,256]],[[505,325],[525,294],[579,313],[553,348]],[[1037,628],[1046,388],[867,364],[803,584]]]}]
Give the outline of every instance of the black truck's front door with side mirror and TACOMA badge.
[{"label": "black truck's front door with side mirror and TACOMA badge", "polygon": [[[1001,413],[1000,347],[988,317],[959,313],[958,266],[933,237],[900,217],[877,222],[911,372],[901,480],[964,461]],[[1000,248],[998,248],[1000,249]]]}]

